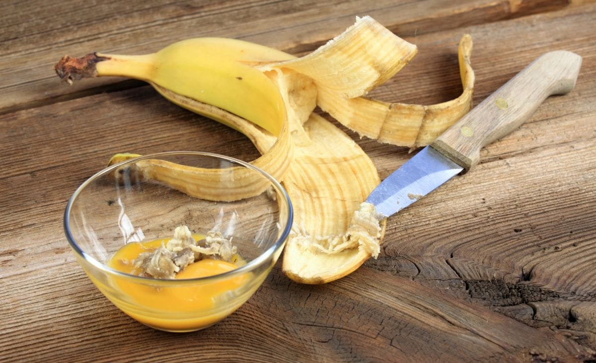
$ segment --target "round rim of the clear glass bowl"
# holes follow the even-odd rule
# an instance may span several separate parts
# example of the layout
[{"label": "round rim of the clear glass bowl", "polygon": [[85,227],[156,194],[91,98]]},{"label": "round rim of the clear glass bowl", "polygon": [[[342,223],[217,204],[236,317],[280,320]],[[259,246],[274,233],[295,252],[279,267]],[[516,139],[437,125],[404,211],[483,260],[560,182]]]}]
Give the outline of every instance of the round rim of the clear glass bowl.
[{"label": "round rim of the clear glass bowl", "polygon": [[[179,155],[179,154],[200,155],[200,156],[210,157],[210,158],[225,159],[226,161],[232,162],[232,164],[238,164],[241,167],[246,167],[246,168],[252,169],[252,170],[256,171],[257,173],[260,173],[263,176],[265,176],[266,179],[269,179],[269,181],[274,185],[274,187],[278,190],[278,192],[280,192],[281,196],[283,196],[283,198],[285,199],[285,206],[287,208],[287,223],[285,224],[284,230],[282,231],[280,237],[275,241],[275,243],[271,247],[266,249],[264,252],[262,252],[259,256],[252,259],[251,261],[247,262],[246,265],[235,268],[234,270],[226,271],[225,273],[216,274],[216,275],[212,275],[212,276],[184,278],[184,279],[180,279],[180,280],[169,279],[169,278],[155,278],[155,277],[137,276],[137,275],[133,275],[133,274],[124,273],[122,271],[111,268],[108,265],[98,261],[91,255],[86,254],[85,251],[83,251],[83,249],[80,248],[80,246],[76,243],[75,238],[72,236],[72,233],[70,233],[70,217],[69,217],[70,211],[72,209],[73,203],[76,201],[77,196],[79,196],[79,194],[82,192],[82,190],[85,189],[86,186],[91,184],[98,177],[104,176],[105,174],[110,173],[111,171],[115,170],[116,168],[118,168],[122,165],[132,164],[133,162],[136,162],[136,161],[139,161],[142,159],[159,158],[159,157],[164,157],[167,155]],[[75,254],[80,256],[81,258],[83,258],[86,262],[89,262],[89,264],[93,265],[93,267],[98,268],[99,270],[103,271],[104,273],[114,275],[114,276],[131,278],[132,280],[137,280],[138,282],[142,282],[142,283],[152,283],[152,284],[157,283],[157,284],[164,284],[164,285],[176,284],[176,285],[178,285],[178,284],[193,284],[193,283],[197,283],[197,282],[204,283],[207,281],[213,282],[213,281],[218,281],[218,280],[224,280],[226,278],[240,276],[244,273],[248,273],[250,271],[255,270],[256,268],[265,264],[266,261],[268,261],[271,258],[271,256],[274,255],[278,250],[281,250],[283,248],[283,246],[285,245],[285,241],[287,240],[287,237],[289,236],[290,231],[291,231],[293,217],[294,217],[294,211],[293,211],[293,206],[290,201],[290,196],[288,196],[288,193],[286,192],[284,187],[281,185],[281,183],[278,182],[274,177],[272,177],[266,171],[250,164],[249,162],[242,161],[241,159],[237,159],[237,158],[233,158],[233,157],[228,157],[226,155],[215,154],[212,152],[167,151],[167,152],[156,152],[153,154],[141,155],[139,157],[127,159],[127,160],[119,162],[117,164],[110,165],[110,166],[98,171],[97,173],[93,174],[88,179],[86,179],[85,182],[83,182],[82,184],[80,184],[79,187],[77,187],[77,189],[75,190],[73,195],[70,196],[69,201],[66,204],[66,209],[64,209],[63,227],[64,227],[64,233],[66,234],[66,239],[68,240],[70,247],[73,249],[73,251],[75,251]]]}]

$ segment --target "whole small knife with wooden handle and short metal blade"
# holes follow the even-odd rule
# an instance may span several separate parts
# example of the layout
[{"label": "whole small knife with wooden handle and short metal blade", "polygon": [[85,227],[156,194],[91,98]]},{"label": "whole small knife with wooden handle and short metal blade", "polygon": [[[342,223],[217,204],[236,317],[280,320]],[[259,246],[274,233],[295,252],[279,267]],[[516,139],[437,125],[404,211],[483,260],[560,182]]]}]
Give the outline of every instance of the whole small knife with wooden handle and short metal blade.
[{"label": "whole small knife with wooden handle and short metal blade", "polygon": [[550,95],[569,93],[582,57],[541,55],[383,180],[367,198],[386,218],[477,164],[480,149],[517,129]]}]

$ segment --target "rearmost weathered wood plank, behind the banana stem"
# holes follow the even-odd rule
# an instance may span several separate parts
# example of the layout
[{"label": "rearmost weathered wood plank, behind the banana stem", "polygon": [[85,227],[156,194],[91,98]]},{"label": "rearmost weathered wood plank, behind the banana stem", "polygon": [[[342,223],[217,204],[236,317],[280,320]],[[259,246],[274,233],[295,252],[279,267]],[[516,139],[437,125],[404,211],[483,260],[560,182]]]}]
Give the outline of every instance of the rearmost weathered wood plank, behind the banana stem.
[{"label": "rearmost weathered wood plank, behind the banana stem", "polygon": [[[569,0],[143,1],[80,4],[77,0],[14,1],[0,14],[0,112],[112,89],[116,79],[58,87],[52,66],[64,54],[138,54],[176,40],[222,36],[289,52],[312,51],[371,15],[393,32],[414,37],[462,25],[489,23],[566,7]],[[315,31],[313,31],[315,30]],[[138,85],[134,83],[133,85]],[[126,86],[131,86],[129,83]],[[116,86],[116,87],[123,87]],[[70,95],[70,96],[69,96]]]}]

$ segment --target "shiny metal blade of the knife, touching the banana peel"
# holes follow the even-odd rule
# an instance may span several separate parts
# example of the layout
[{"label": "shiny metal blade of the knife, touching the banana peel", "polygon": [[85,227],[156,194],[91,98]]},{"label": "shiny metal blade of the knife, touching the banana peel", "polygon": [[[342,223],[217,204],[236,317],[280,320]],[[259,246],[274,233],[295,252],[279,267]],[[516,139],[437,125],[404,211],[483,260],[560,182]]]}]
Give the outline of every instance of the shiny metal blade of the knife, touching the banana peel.
[{"label": "shiny metal blade of the knife, touching the banana peel", "polygon": [[368,196],[384,217],[395,214],[459,174],[464,168],[426,146],[394,171]]}]

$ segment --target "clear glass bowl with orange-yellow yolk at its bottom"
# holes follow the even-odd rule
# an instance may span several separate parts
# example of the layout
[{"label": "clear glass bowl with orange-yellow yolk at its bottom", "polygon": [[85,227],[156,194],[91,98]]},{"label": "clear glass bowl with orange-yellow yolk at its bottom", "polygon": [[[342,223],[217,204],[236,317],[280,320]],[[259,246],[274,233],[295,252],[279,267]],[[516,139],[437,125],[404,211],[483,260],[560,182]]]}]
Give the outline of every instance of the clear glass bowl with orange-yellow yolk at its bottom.
[{"label": "clear glass bowl with orange-yellow yolk at its bottom", "polygon": [[[237,193],[250,188],[253,196]],[[292,215],[283,187],[259,168],[206,152],[166,152],[128,159],[86,180],[66,206],[64,230],[77,261],[114,305],[147,326],[192,331],[253,295],[281,254]],[[246,264],[183,280],[107,265],[126,243],[167,239],[181,225],[232,238]]]}]

